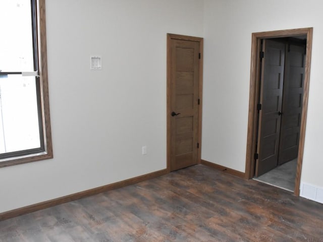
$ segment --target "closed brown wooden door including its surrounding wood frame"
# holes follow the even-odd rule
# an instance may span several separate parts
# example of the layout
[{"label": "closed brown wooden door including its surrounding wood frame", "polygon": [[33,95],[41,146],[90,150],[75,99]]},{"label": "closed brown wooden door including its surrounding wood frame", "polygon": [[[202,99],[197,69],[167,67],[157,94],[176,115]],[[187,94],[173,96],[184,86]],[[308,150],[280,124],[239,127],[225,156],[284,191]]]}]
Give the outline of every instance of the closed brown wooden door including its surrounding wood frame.
[{"label": "closed brown wooden door including its surrounding wood frame", "polygon": [[169,171],[200,162],[202,39],[168,34]]}]

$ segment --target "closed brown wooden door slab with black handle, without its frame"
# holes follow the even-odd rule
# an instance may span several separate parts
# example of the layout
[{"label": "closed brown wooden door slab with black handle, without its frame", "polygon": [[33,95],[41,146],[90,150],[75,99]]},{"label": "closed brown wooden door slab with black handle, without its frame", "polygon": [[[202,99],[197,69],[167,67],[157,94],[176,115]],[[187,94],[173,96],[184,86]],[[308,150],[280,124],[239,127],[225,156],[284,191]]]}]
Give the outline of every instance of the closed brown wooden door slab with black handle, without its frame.
[{"label": "closed brown wooden door slab with black handle, without its frame", "polygon": [[199,47],[171,40],[171,171],[197,164]]}]

